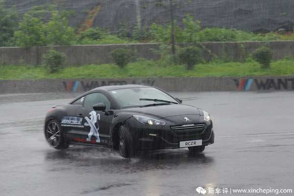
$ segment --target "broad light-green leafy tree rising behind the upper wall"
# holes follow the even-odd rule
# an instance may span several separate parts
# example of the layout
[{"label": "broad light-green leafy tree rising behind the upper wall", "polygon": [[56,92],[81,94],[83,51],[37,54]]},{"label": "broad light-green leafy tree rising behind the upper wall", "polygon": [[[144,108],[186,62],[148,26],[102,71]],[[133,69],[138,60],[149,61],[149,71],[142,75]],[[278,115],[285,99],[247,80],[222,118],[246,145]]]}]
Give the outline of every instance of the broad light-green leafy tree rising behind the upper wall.
[{"label": "broad light-green leafy tree rising behind the upper wall", "polygon": [[[71,45],[74,29],[68,26],[66,13],[59,13],[52,6],[49,6],[47,11],[41,8],[34,7],[24,14],[23,21],[19,24],[19,30],[14,34],[18,46],[28,48],[32,46]],[[48,22],[44,18],[44,12],[51,13]]]}]

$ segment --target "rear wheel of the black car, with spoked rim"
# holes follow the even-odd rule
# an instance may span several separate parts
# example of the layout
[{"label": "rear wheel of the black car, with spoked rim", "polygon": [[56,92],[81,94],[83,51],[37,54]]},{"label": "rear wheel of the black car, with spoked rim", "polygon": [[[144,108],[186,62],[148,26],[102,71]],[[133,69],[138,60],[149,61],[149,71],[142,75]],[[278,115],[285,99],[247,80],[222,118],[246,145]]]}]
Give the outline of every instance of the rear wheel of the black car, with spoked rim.
[{"label": "rear wheel of the black car, with spoked rim", "polygon": [[69,147],[62,136],[60,123],[56,120],[50,120],[46,124],[45,137],[49,145],[55,149],[65,149]]}]

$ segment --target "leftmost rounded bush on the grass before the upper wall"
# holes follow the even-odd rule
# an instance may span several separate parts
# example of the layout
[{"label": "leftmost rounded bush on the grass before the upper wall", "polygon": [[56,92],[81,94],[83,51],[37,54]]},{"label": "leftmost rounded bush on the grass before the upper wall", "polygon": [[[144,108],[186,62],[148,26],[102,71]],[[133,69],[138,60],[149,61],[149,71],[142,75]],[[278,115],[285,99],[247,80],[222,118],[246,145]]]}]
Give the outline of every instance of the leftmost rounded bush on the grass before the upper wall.
[{"label": "leftmost rounded bush on the grass before the upper wall", "polygon": [[42,55],[45,69],[49,73],[56,73],[63,69],[63,65],[66,59],[64,52],[57,52],[55,50],[49,50],[46,54]]}]

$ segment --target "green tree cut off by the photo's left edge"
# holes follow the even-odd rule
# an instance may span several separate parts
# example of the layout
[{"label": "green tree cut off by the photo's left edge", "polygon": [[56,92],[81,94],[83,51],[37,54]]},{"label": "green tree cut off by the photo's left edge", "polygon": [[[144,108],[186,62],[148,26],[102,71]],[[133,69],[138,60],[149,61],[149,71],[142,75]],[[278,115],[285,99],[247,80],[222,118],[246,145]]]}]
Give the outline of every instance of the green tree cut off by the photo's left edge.
[{"label": "green tree cut off by the photo's left edge", "polygon": [[5,0],[0,0],[0,47],[4,47],[13,37],[18,17],[16,8],[5,9],[4,2]]}]

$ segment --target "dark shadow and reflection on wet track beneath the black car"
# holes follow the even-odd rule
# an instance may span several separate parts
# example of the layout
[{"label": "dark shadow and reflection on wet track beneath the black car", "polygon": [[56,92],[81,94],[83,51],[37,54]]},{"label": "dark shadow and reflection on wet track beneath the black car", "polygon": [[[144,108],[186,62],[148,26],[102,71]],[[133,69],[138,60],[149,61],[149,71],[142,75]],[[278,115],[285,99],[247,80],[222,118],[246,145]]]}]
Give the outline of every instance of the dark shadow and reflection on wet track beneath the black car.
[{"label": "dark shadow and reflection on wet track beneath the black car", "polygon": [[[132,158],[123,158],[119,152],[110,148],[70,147],[66,150],[47,152],[46,160],[58,164],[59,169],[101,168],[107,172],[139,172],[152,169],[172,169],[178,167],[201,167],[211,164],[214,158],[204,152],[191,153],[188,149],[169,149],[139,153]],[[50,164],[51,165],[51,164]],[[70,167],[69,167],[70,165]],[[189,167],[190,167],[189,166]],[[56,167],[53,170],[58,170]]]}]

